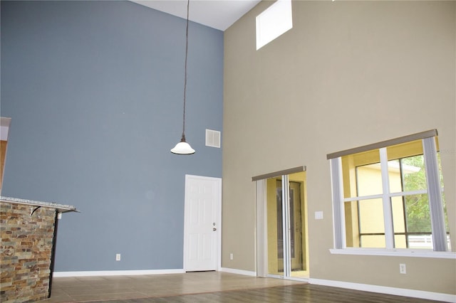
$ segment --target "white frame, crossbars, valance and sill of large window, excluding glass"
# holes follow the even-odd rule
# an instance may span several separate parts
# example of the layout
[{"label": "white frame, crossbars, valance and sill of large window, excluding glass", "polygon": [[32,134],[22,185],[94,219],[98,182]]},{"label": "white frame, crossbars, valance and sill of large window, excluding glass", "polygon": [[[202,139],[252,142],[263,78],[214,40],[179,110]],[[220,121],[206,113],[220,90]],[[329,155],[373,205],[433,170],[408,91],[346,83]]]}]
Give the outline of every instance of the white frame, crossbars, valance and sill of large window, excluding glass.
[{"label": "white frame, crossbars, valance and sill of large window, excluding glass", "polygon": [[[331,182],[333,196],[333,233],[334,243],[331,253],[344,255],[395,255],[415,257],[442,257],[456,259],[455,252],[447,251],[447,234],[442,203],[442,188],[440,186],[439,167],[435,138],[437,130],[413,134],[397,139],[370,144],[346,151],[328,154],[331,166]],[[427,193],[430,201],[430,216],[432,225],[433,250],[413,250],[410,248],[394,248],[393,216],[391,214],[390,199],[393,196],[403,196],[405,193],[390,193],[388,181],[388,155],[386,147],[404,142],[422,139],[425,170],[427,179]],[[343,198],[343,177],[341,156],[356,154],[360,151],[379,149],[380,169],[382,170],[383,193],[375,196]],[[420,191],[421,192],[421,191]],[[407,193],[409,194],[409,193]],[[348,201],[366,200],[367,198],[382,198],[383,218],[385,223],[385,248],[347,248],[344,203]]]}]

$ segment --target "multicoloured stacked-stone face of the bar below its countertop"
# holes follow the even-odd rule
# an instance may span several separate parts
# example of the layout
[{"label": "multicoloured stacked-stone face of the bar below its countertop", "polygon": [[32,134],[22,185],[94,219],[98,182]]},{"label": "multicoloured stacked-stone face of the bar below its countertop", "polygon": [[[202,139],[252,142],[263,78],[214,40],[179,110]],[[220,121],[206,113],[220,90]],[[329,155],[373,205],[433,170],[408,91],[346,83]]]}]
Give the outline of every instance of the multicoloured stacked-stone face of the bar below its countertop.
[{"label": "multicoloured stacked-stone face of the bar below its countertop", "polygon": [[56,208],[37,207],[0,202],[1,302],[48,297]]}]

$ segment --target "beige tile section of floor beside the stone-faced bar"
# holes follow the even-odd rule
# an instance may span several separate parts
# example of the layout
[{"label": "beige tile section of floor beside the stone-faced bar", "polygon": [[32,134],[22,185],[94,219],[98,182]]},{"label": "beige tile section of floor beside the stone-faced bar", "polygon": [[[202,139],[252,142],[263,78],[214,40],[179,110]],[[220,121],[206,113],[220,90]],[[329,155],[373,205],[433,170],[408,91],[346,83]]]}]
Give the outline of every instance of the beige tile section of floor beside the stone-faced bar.
[{"label": "beige tile section of floor beside the stone-faced bar", "polygon": [[302,282],[249,277],[227,272],[170,275],[54,277],[51,298],[44,302],[84,302],[254,289]]}]

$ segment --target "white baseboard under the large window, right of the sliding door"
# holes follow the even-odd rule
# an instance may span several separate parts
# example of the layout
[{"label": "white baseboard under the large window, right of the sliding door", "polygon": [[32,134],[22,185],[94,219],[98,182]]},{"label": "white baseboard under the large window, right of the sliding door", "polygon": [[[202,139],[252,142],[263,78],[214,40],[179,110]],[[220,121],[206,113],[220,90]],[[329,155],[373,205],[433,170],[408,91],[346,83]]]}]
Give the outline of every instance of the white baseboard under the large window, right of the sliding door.
[{"label": "white baseboard under the large window, right of the sliding door", "polygon": [[312,279],[312,278],[309,279],[309,283],[315,284],[315,285],[356,289],[356,290],[362,290],[365,292],[379,292],[382,294],[395,294],[397,296],[413,297],[413,298],[420,298],[420,299],[431,299],[431,300],[436,300],[436,301],[455,302],[456,303],[455,294],[442,294],[440,292],[425,292],[423,290],[415,290],[415,289],[385,287],[385,286],[378,286],[378,285],[368,285],[368,284],[341,282],[341,281],[333,281],[333,280],[321,280],[321,279]]}]

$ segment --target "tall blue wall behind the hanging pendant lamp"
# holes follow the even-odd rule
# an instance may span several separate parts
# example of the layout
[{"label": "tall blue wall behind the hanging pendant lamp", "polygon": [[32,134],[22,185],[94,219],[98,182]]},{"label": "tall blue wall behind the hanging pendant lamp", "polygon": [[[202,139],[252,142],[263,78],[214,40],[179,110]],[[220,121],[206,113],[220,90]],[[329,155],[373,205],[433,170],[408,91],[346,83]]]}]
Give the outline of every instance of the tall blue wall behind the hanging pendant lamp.
[{"label": "tall blue wall behind the hanging pendant lamp", "polygon": [[[190,7],[191,9],[191,7]],[[222,176],[223,32],[130,1],[1,1],[2,196],[74,205],[56,271],[182,269],[185,174]],[[115,254],[122,254],[120,262]]]}]

